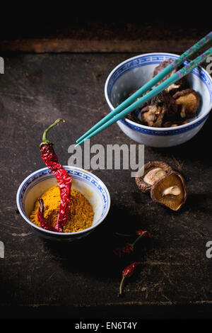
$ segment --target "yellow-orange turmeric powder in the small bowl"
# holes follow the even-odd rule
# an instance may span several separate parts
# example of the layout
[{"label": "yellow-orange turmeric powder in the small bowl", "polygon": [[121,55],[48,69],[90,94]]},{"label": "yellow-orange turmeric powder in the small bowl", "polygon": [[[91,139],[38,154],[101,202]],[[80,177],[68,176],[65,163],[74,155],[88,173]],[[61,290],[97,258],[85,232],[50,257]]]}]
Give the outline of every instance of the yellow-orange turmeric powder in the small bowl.
[{"label": "yellow-orange turmeric powder in the small bowl", "polygon": [[[59,186],[54,185],[50,187],[40,198],[45,202],[45,220],[54,227],[57,222],[60,205]],[[35,201],[34,209],[30,213],[30,221],[40,227],[37,212],[38,200]],[[93,224],[93,216],[92,205],[90,205],[86,197],[81,192],[71,188],[71,206],[69,217],[64,226],[64,232],[76,232],[90,227]]]}]

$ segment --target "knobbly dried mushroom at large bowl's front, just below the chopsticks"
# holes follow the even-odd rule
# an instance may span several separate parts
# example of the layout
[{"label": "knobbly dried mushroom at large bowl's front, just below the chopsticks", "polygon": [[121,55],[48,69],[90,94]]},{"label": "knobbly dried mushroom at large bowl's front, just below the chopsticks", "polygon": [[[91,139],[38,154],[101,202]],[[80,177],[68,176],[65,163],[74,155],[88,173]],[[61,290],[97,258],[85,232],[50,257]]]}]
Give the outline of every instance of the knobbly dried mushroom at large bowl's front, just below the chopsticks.
[{"label": "knobbly dried mushroom at large bowl's front, just below the chopsticks", "polygon": [[162,127],[164,118],[173,118],[176,114],[177,104],[175,99],[165,91],[153,97],[148,106],[141,109],[143,122],[148,126],[158,128]]}]

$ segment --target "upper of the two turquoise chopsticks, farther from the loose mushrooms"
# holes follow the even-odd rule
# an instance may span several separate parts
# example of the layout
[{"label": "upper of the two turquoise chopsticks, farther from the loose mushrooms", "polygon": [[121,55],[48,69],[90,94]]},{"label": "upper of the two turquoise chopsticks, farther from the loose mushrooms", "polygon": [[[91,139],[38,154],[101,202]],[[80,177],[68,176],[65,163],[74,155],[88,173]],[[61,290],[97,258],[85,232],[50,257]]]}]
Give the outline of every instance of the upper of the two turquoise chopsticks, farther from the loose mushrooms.
[{"label": "upper of the two turquoise chopsticks, farther from the loose mushrooms", "polygon": [[87,135],[89,135],[91,132],[93,132],[94,130],[97,130],[101,125],[107,123],[107,120],[110,120],[111,118],[114,117],[114,115],[117,115],[117,113],[124,110],[124,108],[126,108],[131,103],[133,103],[133,101],[135,101],[136,98],[139,98],[140,96],[145,94],[146,91],[148,91],[153,86],[155,86],[155,84],[157,84],[164,77],[166,77],[168,74],[170,74],[173,69],[176,69],[177,67],[179,67],[184,62],[184,60],[187,60],[187,58],[189,56],[193,55],[195,52],[200,50],[201,47],[204,47],[211,40],[212,40],[212,31],[211,31],[211,33],[208,33],[208,35],[206,35],[204,38],[201,38],[201,40],[199,40],[199,42],[194,44],[187,51],[182,53],[182,55],[180,55],[176,60],[174,60],[171,64],[169,64],[167,67],[165,67],[165,69],[163,69],[162,72],[160,72],[155,77],[153,77],[153,79],[151,79],[146,84],[141,86],[141,88],[139,90],[137,90],[133,95],[129,96],[129,98],[126,98],[126,100],[123,101],[121,104],[119,104],[119,106],[117,106],[117,108],[114,108],[114,110],[112,112],[108,113],[108,115],[106,115],[104,118],[102,118],[102,120],[100,120],[97,124],[95,124],[92,128],[90,128],[90,130],[88,130],[85,134],[83,134],[81,137],[79,137],[78,140],[76,140],[76,142],[80,142],[85,137],[87,137]]}]

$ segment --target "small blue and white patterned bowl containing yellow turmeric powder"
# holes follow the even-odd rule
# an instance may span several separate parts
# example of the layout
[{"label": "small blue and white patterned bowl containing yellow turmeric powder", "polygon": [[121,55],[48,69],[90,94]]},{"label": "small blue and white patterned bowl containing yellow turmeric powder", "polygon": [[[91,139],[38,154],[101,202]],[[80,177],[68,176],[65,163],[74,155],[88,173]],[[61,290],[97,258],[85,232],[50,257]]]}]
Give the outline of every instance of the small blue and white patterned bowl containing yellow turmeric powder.
[{"label": "small blue and white patterned bowl containing yellow turmeric powder", "polygon": [[106,218],[110,210],[110,193],[103,182],[89,171],[77,168],[76,166],[64,166],[72,178],[72,188],[80,191],[85,196],[94,210],[93,225],[85,230],[78,232],[52,232],[37,227],[29,220],[30,212],[33,210],[34,203],[47,188],[57,184],[54,174],[48,169],[40,169],[30,174],[20,184],[16,196],[18,210],[24,220],[42,237],[59,241],[73,241],[87,236],[95,227]]}]

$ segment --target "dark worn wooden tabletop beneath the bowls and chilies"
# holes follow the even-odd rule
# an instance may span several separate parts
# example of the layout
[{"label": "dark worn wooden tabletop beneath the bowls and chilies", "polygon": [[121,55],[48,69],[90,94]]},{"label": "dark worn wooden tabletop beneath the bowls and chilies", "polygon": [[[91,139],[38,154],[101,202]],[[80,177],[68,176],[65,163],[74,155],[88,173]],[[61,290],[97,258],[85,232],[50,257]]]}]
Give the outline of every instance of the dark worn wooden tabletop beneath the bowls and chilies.
[{"label": "dark worn wooden tabletop beneath the bowls and chilies", "polygon": [[[62,164],[69,145],[106,115],[104,84],[110,70],[134,53],[4,55],[0,76],[1,219],[0,317],[153,318],[211,317],[212,240],[211,118],[179,147],[145,147],[145,162],[160,160],[181,171],[187,203],[173,213],[136,187],[130,170],[97,170],[107,185],[110,213],[86,239],[62,244],[38,237],[16,208],[16,192],[31,172],[44,167],[42,132],[57,118],[66,124],[51,140]],[[93,138],[106,147],[134,142],[116,124]],[[152,233],[134,259],[142,265],[117,297],[122,268],[112,249],[115,232]]]}]

